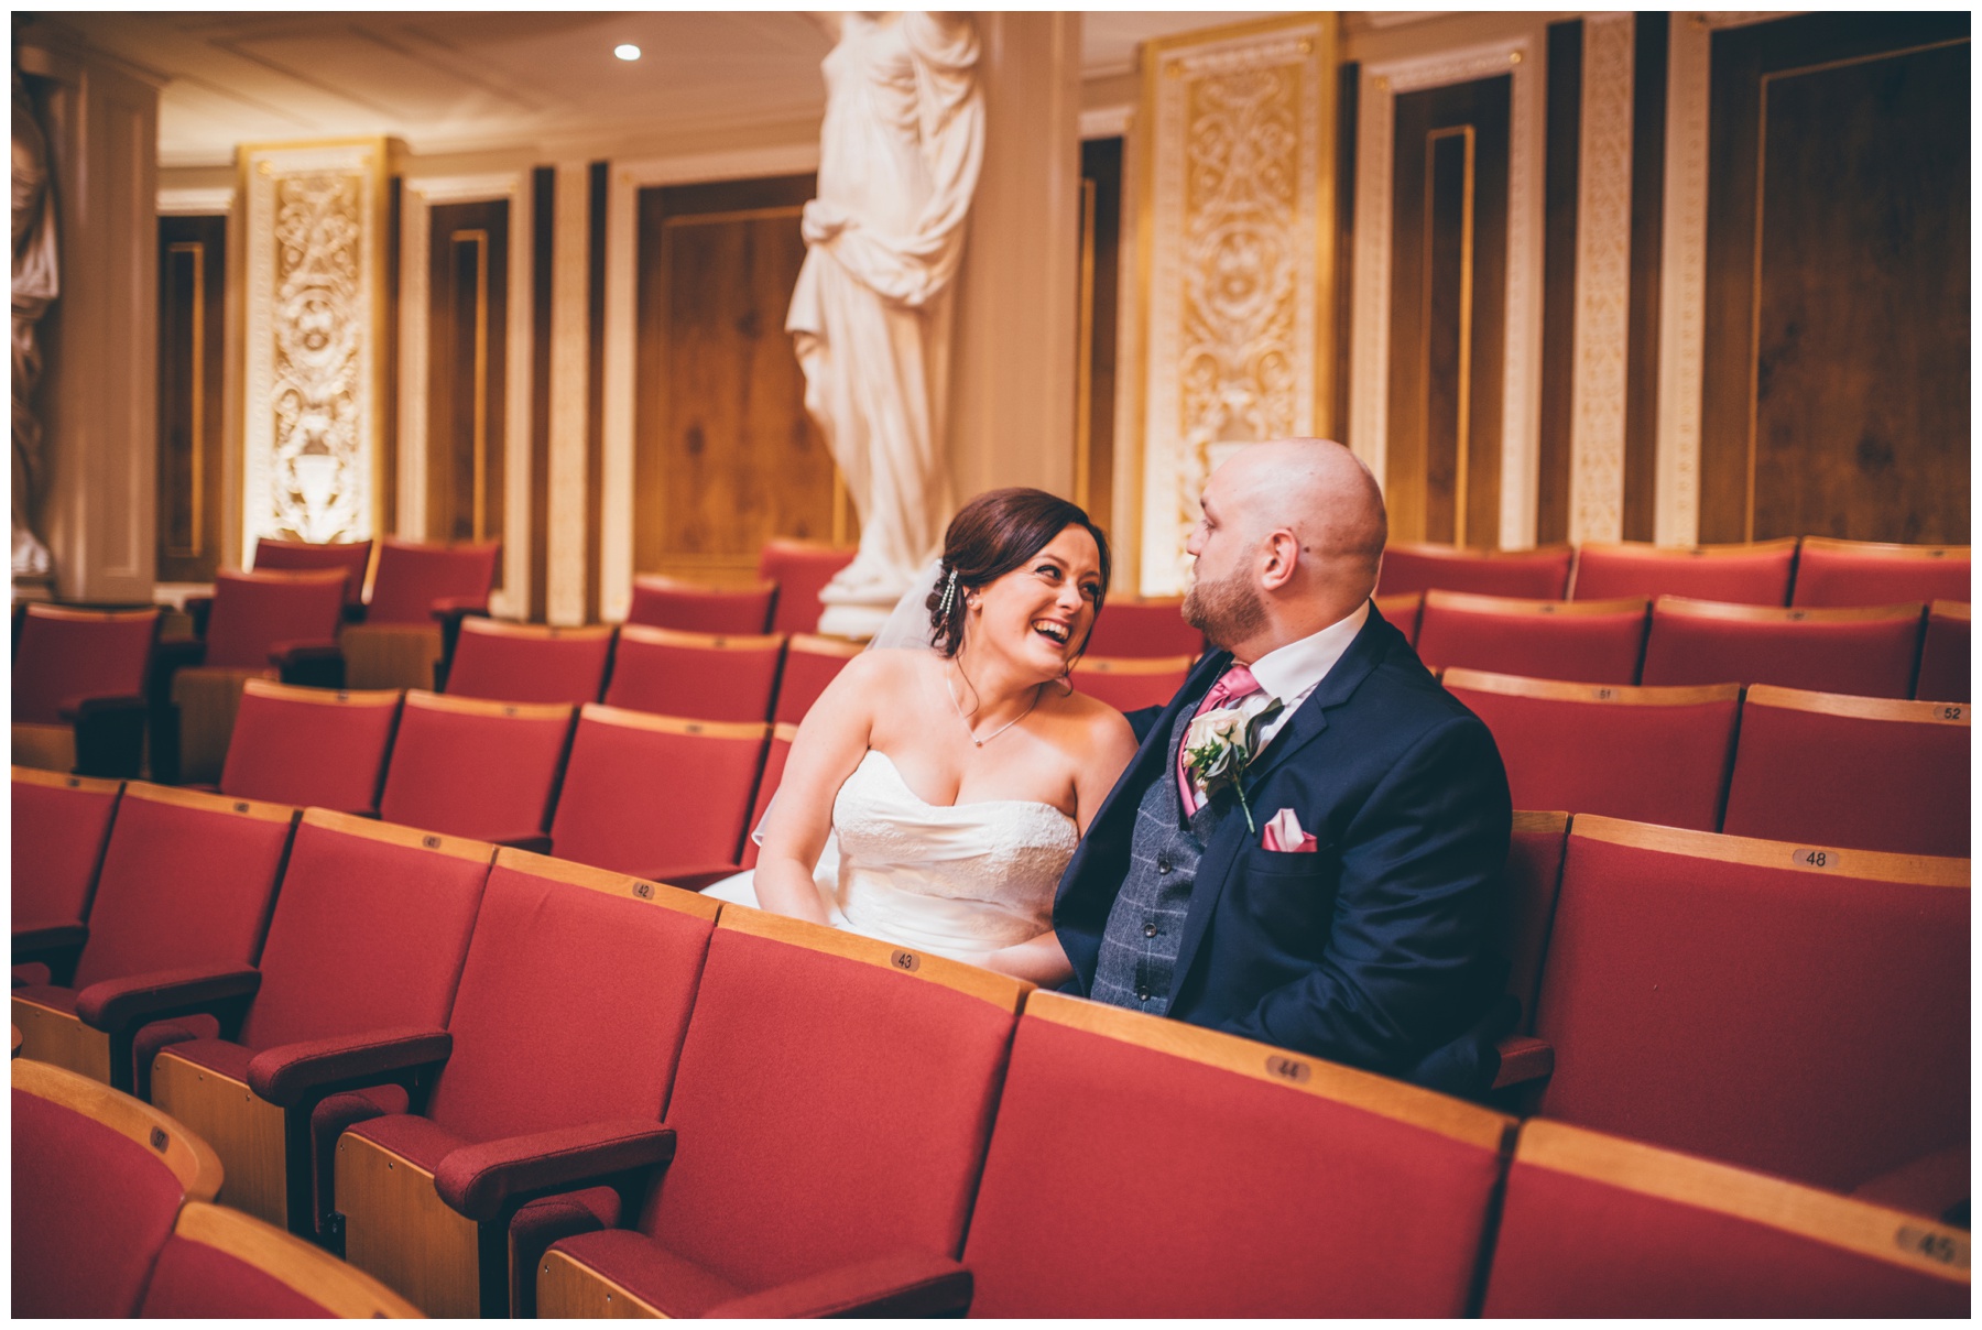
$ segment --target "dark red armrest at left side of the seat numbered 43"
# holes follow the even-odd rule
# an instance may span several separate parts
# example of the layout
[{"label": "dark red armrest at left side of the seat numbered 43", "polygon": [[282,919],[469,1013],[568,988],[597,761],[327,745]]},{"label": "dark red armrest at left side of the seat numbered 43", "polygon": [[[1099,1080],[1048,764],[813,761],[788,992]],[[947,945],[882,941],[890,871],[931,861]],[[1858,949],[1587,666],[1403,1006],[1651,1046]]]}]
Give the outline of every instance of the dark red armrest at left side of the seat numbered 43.
[{"label": "dark red armrest at left side of the seat numbered 43", "polygon": [[434,1169],[440,1199],[476,1223],[553,1191],[597,1187],[674,1158],[674,1128],[616,1118],[462,1146]]}]

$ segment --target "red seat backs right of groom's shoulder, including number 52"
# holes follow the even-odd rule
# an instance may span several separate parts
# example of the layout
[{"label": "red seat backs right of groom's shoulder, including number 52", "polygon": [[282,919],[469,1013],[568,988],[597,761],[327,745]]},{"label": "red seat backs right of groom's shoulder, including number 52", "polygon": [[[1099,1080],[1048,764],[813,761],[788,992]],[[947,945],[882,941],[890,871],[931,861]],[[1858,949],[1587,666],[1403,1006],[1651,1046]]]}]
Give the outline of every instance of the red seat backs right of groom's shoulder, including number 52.
[{"label": "red seat backs right of groom's shoulder, including number 52", "polygon": [[1492,729],[1518,809],[1968,856],[1966,704],[1443,678]]}]

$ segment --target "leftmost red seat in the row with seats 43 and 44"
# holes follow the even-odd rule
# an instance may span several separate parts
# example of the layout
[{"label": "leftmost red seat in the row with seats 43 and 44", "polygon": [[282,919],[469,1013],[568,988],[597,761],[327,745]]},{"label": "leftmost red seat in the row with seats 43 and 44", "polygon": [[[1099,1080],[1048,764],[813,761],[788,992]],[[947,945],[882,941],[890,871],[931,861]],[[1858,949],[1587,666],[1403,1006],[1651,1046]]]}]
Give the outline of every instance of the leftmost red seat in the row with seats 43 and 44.
[{"label": "leftmost red seat in the row with seats 43 and 44", "polygon": [[123,781],[14,767],[14,977],[67,981]]}]

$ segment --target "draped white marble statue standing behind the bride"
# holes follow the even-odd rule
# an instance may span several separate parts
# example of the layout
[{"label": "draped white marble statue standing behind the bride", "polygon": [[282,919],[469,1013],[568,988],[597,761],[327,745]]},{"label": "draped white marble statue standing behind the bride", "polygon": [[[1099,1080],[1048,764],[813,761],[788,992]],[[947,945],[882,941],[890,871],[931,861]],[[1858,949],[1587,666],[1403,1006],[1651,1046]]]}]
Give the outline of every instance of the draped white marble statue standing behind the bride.
[{"label": "draped white marble statue standing behind the bride", "polygon": [[860,513],[823,632],[868,636],[949,517],[951,285],[983,161],[977,28],[965,14],[834,14],[819,198],[785,331]]}]

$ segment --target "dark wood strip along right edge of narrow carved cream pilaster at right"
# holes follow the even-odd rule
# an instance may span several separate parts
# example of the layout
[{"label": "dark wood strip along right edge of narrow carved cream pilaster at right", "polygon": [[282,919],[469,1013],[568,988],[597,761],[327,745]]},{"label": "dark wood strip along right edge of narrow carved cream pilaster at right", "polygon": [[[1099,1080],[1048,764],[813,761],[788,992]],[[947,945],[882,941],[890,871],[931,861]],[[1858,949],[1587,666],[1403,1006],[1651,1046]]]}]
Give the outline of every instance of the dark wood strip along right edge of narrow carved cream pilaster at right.
[{"label": "dark wood strip along right edge of narrow carved cream pilaster at right", "polygon": [[1657,533],[1659,283],[1665,246],[1665,61],[1671,16],[1635,18],[1631,40],[1631,297],[1625,313],[1623,539]]}]

